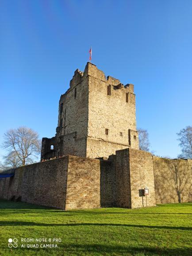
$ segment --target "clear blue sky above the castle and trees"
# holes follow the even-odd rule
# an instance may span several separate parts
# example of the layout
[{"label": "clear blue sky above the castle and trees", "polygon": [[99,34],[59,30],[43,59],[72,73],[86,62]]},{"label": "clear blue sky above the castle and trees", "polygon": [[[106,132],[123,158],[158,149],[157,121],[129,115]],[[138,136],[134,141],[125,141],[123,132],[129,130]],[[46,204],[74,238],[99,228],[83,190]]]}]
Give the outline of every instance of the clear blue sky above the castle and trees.
[{"label": "clear blue sky above the castle and trees", "polygon": [[192,125],[191,0],[0,0],[0,144],[22,125],[54,136],[60,95],[90,46],[106,76],[134,84],[150,150],[176,157],[176,133]]}]

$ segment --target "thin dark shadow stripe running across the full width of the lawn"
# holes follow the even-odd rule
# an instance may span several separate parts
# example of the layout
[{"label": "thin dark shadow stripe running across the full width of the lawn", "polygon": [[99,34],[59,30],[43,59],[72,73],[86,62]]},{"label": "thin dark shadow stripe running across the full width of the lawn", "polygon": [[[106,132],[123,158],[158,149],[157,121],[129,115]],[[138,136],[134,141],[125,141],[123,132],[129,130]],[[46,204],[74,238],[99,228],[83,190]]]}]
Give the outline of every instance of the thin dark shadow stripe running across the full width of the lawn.
[{"label": "thin dark shadow stripe running across the full width of the lawn", "polygon": [[148,225],[131,225],[131,224],[114,224],[114,223],[36,223],[30,221],[0,221],[0,226],[115,226],[115,227],[134,227],[134,228],[148,228],[148,229],[181,229],[192,230],[191,227],[169,227],[169,226],[148,226]]}]

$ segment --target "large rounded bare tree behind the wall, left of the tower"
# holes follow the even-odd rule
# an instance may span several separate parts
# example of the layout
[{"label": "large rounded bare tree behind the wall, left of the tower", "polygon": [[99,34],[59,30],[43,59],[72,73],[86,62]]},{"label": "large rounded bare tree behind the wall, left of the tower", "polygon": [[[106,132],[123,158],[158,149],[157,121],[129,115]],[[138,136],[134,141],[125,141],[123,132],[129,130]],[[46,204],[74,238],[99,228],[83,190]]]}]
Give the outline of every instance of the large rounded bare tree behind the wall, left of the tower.
[{"label": "large rounded bare tree behind the wall, left of the tower", "polygon": [[[5,157],[9,162],[13,159],[15,163],[22,165],[32,163],[34,158],[41,152],[41,141],[38,139],[38,133],[31,128],[19,127],[10,129],[4,133],[4,143],[2,146],[8,150],[8,155]],[[5,159],[5,160],[6,160]]]}]

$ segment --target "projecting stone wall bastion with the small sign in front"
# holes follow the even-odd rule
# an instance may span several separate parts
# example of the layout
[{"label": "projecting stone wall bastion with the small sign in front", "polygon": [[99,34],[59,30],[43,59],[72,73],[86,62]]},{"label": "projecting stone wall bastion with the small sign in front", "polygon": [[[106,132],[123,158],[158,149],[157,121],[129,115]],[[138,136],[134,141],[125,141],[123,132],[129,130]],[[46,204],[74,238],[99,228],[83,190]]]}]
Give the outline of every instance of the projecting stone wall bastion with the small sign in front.
[{"label": "projecting stone wall bastion with the small sign in front", "polygon": [[[153,158],[149,152],[127,148],[116,151],[117,206],[155,206]],[[149,195],[143,190],[149,188]]]}]

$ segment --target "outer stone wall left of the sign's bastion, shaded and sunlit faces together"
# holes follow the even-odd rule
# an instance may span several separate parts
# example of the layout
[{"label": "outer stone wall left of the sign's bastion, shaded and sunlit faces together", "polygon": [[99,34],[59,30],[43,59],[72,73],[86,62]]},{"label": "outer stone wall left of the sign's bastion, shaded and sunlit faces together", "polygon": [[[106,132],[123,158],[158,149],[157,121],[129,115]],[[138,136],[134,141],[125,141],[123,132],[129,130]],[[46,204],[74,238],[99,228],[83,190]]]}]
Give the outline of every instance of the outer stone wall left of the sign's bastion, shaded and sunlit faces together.
[{"label": "outer stone wall left of the sign's bastion, shaded and sunlit faces together", "polygon": [[0,179],[0,198],[59,209],[111,206],[115,182],[111,161],[69,155],[16,168]]}]

